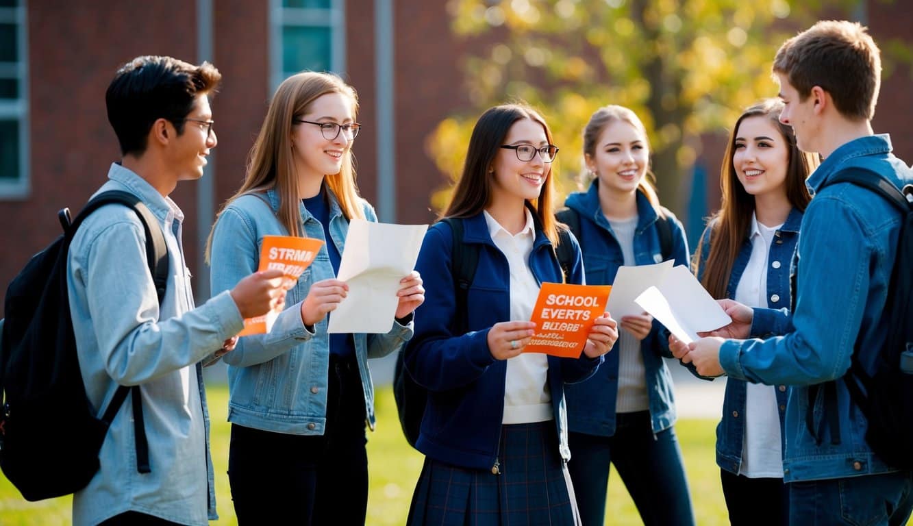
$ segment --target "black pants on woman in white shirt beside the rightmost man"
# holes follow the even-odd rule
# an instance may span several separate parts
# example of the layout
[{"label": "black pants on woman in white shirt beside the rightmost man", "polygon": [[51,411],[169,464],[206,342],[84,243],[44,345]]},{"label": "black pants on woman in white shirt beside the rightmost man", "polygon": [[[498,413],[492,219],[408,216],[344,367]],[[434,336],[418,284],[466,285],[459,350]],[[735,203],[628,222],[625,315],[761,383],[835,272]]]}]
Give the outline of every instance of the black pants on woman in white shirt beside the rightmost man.
[{"label": "black pants on woman in white shirt beside the rightmost man", "polygon": [[783,479],[749,479],[719,470],[729,523],[786,526],[790,523],[790,494]]}]

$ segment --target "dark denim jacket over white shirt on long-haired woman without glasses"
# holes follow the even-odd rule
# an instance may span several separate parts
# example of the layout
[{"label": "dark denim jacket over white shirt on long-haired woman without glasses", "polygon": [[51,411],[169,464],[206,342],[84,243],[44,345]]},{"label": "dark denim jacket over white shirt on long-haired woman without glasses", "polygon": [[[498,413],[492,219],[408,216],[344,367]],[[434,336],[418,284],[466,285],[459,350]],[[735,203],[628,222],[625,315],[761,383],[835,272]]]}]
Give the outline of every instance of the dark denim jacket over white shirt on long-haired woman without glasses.
[{"label": "dark denim jacket over white shirt on long-haired woman without glasses", "polygon": [[[790,262],[799,240],[799,226],[802,223],[803,213],[797,208],[790,211],[786,222],[775,233],[776,239],[771,244],[768,253],[770,266],[767,268],[767,298],[770,305],[790,304]],[[710,255],[710,231],[712,225],[704,230],[701,236],[700,260],[707,261]],[[736,289],[742,272],[748,267],[751,258],[751,240],[746,237],[739,250],[739,255],[732,263],[729,273],[729,284],[726,286],[726,297],[735,298]],[[704,276],[704,266],[698,265],[698,279]],[[741,467],[742,443],[745,435],[745,404],[747,398],[747,383],[736,378],[726,381],[726,395],[723,398],[723,417],[717,426],[717,465],[733,473],[739,474]],[[780,416],[781,447],[785,448],[786,435],[783,432],[783,421],[786,415],[786,401],[789,389],[786,385],[776,386],[777,406]]]}]

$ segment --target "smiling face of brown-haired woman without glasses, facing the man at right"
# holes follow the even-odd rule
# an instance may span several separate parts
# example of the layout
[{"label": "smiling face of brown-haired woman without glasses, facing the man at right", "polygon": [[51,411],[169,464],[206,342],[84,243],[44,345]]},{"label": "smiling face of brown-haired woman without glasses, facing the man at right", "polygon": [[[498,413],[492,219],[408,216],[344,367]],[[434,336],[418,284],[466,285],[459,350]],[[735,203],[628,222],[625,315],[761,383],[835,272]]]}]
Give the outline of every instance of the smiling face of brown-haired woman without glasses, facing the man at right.
[{"label": "smiling face of brown-haired woman without glasses, facing the man at right", "polygon": [[789,147],[770,117],[747,117],[733,142],[732,167],[750,195],[786,195]]}]

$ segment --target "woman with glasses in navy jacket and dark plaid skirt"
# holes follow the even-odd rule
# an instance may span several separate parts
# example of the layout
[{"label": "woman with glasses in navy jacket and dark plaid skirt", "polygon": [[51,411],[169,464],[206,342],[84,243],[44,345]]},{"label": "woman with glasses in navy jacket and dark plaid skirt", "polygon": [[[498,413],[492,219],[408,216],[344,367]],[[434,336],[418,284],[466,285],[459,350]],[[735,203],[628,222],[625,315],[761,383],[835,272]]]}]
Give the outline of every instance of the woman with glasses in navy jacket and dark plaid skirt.
[{"label": "woman with glasses in navy jacket and dark plaid skirt", "polygon": [[[553,250],[556,153],[528,106],[497,106],[476,122],[444,214],[461,221],[462,241],[478,250],[466,311],[455,308],[453,230],[442,222],[425,235],[417,268],[432,294],[405,351],[408,372],[429,391],[416,442],[425,466],[409,524],[576,521],[563,384],[592,374],[618,334],[605,313],[579,359],[522,353],[540,284],[562,280]],[[571,242],[578,255],[567,281],[582,283]]]}]

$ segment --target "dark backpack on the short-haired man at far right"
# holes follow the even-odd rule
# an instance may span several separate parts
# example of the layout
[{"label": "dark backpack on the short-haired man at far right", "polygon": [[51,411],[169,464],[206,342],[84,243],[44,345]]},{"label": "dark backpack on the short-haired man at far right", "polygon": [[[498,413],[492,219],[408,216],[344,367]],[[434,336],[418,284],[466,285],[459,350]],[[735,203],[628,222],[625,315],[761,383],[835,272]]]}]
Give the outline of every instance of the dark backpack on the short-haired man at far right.
[{"label": "dark backpack on the short-haired man at far right", "polygon": [[[875,373],[866,373],[859,362],[857,342],[844,381],[853,403],[866,416],[866,442],[872,451],[888,466],[913,469],[913,184],[907,184],[901,192],[885,178],[863,168],[839,172],[827,184],[841,182],[881,195],[903,215],[897,259],[882,314],[887,319],[887,338],[878,350]],[[806,415],[806,423],[810,422],[812,416]],[[839,425],[832,422],[831,432],[832,439],[835,433],[839,442]]]}]

